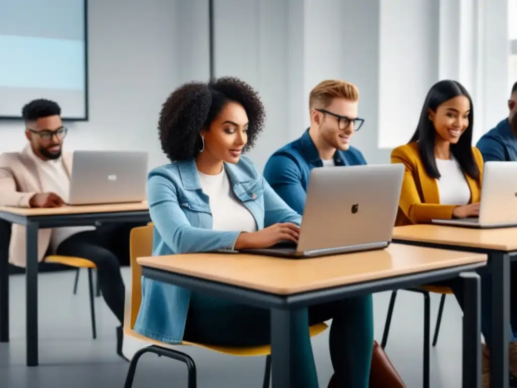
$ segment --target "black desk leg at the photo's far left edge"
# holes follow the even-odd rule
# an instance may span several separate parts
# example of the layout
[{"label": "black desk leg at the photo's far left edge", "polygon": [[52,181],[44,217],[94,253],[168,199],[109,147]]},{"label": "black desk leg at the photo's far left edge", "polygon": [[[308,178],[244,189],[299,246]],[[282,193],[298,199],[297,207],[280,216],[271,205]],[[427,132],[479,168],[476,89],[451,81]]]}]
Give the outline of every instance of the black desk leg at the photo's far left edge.
[{"label": "black desk leg at the photo's far left edge", "polygon": [[[7,221],[0,220],[0,238],[7,240],[10,228]],[[7,236],[4,229],[9,232]],[[9,241],[0,242],[0,342],[9,342]]]}]

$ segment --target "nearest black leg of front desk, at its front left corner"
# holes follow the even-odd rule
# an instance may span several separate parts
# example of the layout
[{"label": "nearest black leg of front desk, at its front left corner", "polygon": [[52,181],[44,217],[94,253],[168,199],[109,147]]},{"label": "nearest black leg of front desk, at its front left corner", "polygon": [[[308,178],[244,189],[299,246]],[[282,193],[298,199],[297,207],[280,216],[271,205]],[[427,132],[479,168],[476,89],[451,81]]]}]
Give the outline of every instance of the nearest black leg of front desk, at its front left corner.
[{"label": "nearest black leg of front desk, at its front left corner", "polygon": [[292,380],[292,372],[296,366],[290,357],[292,319],[292,310],[271,309],[272,388],[296,388]]}]

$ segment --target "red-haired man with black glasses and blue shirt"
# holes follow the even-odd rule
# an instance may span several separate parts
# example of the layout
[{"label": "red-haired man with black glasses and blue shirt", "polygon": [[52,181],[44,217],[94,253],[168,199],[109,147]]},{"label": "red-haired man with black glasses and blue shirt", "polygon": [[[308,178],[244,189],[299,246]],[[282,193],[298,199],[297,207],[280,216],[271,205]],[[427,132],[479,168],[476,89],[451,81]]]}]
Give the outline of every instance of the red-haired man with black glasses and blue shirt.
[{"label": "red-haired man with black glasses and blue shirt", "polygon": [[[309,95],[310,127],[303,135],[275,152],[266,163],[264,177],[278,195],[299,214],[307,198],[313,168],[366,165],[361,152],[350,145],[364,123],[357,116],[359,89],[341,80],[326,80]],[[364,327],[366,335],[373,328]],[[370,349],[356,349],[358,356]],[[333,378],[329,388],[334,386]],[[382,348],[375,342],[370,387],[404,387],[402,379]]]}]

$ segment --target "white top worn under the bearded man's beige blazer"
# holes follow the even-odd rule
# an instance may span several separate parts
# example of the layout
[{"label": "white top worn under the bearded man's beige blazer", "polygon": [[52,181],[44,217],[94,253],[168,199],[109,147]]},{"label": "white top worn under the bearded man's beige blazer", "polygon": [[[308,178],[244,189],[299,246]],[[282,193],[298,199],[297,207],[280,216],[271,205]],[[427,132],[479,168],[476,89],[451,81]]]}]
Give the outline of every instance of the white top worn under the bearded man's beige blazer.
[{"label": "white top worn under the bearded man's beige blazer", "polygon": [[[68,176],[68,171],[65,168],[63,159],[41,160],[34,154],[31,147],[28,148],[29,155],[31,155],[32,159],[36,163],[43,192],[56,193],[63,199],[63,201],[65,201],[65,203],[67,203],[70,192],[70,177]],[[84,232],[86,230],[95,230],[95,227],[79,226],[54,228],[50,239],[51,252],[55,253],[59,244],[65,241],[72,234]]]}]

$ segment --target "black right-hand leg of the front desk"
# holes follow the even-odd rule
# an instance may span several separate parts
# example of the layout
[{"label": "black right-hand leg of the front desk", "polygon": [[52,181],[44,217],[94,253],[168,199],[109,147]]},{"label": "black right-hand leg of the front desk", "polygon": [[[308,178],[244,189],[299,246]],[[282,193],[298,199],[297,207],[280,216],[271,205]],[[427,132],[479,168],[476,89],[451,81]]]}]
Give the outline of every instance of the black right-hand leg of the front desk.
[{"label": "black right-hand leg of the front desk", "polygon": [[475,272],[463,279],[463,388],[481,388],[481,278]]}]

